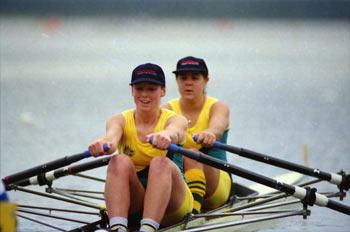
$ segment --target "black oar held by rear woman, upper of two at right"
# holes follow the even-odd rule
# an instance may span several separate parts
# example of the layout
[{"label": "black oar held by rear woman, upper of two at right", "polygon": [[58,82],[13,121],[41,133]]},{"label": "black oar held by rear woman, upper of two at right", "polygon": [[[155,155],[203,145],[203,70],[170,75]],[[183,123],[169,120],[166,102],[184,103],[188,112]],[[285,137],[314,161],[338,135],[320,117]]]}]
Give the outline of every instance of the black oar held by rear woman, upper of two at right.
[{"label": "black oar held by rear woman, upper of two at right", "polygon": [[[196,136],[194,140],[197,141],[197,139],[198,137]],[[274,165],[280,168],[285,168],[291,171],[299,172],[304,175],[316,177],[321,180],[329,181],[330,183],[337,185],[340,190],[344,189],[348,191],[350,188],[350,174],[342,176],[336,173],[320,171],[319,169],[309,168],[300,164],[292,163],[286,160],[281,160],[255,151],[250,151],[244,148],[223,144],[219,141],[216,141],[213,147],[237,154],[245,158]]]}]

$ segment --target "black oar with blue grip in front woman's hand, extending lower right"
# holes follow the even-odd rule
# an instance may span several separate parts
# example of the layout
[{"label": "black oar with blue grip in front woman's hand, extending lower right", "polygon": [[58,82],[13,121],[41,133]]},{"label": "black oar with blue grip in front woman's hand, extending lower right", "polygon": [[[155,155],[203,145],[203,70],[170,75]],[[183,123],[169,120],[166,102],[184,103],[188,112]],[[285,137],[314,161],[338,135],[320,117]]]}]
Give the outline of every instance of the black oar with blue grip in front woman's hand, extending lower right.
[{"label": "black oar with blue grip in front woman's hand, extending lower right", "polygon": [[[150,142],[152,143],[152,139],[150,140]],[[308,204],[311,206],[313,204],[316,204],[318,206],[324,206],[324,207],[333,209],[335,211],[350,215],[349,206],[338,203],[331,199],[328,199],[326,196],[322,194],[316,193],[316,189],[301,188],[301,187],[289,185],[283,182],[278,182],[275,179],[254,173],[252,171],[237,167],[233,164],[213,158],[203,153],[194,152],[174,144],[170,144],[167,150],[174,153],[175,152],[180,153],[186,157],[197,160],[198,162],[209,165],[211,167],[215,167],[215,168],[227,171],[234,175],[246,178],[248,180],[257,182],[259,184],[268,186],[270,188],[274,188],[281,192],[285,192],[298,199],[301,199],[304,204]]]}]

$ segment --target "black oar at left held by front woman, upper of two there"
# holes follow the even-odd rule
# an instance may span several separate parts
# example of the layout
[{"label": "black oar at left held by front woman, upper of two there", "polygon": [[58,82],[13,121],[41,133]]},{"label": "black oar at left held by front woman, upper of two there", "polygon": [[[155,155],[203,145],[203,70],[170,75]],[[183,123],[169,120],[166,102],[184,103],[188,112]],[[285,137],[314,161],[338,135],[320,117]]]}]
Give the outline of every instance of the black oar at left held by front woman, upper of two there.
[{"label": "black oar at left held by front woman, upper of two there", "polygon": [[[108,151],[108,146],[107,144],[103,144],[103,150],[104,151]],[[91,156],[91,153],[87,150],[84,151],[83,153],[79,153],[79,154],[75,154],[75,155],[71,155],[71,156],[65,156],[63,158],[48,162],[48,163],[44,163],[42,165],[21,171],[21,172],[17,172],[13,175],[9,175],[6,176],[3,181],[6,185],[8,184],[13,184],[17,181],[26,179],[26,178],[30,178],[33,176],[36,176],[40,173],[45,173],[48,171],[52,171],[54,169],[58,169],[61,167],[64,167],[66,165],[69,165],[71,163],[77,162],[79,160],[82,160],[84,158],[88,158]]]}]

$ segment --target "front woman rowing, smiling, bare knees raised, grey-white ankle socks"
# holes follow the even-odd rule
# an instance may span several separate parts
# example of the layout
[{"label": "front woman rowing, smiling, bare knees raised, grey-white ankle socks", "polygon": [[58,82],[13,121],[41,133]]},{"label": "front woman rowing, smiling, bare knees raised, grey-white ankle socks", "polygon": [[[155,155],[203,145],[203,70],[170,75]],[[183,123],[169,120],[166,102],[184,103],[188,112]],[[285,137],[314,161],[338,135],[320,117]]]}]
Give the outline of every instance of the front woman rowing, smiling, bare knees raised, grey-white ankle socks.
[{"label": "front woman rowing, smiling, bare knees raised, grey-white ankle socks", "polygon": [[192,211],[193,197],[184,180],[182,157],[165,150],[170,143],[184,141],[188,124],[183,116],[160,108],[166,93],[161,67],[139,65],[130,85],[136,108],[112,116],[106,135],[95,140],[89,151],[95,157],[116,149],[120,154],[111,159],[107,169],[110,230],[127,231],[128,217],[135,219],[143,210],[140,231],[150,232],[158,230],[159,224],[179,222]]}]

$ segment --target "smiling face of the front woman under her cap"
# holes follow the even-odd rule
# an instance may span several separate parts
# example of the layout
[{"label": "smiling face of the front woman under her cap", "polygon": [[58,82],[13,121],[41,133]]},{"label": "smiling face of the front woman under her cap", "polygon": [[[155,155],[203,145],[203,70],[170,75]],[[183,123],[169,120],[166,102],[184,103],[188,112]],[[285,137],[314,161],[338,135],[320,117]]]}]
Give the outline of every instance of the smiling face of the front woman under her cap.
[{"label": "smiling face of the front woman under her cap", "polygon": [[158,108],[165,93],[165,88],[150,82],[140,82],[132,86],[134,102],[136,107],[141,110]]}]

